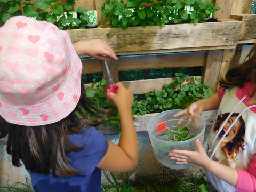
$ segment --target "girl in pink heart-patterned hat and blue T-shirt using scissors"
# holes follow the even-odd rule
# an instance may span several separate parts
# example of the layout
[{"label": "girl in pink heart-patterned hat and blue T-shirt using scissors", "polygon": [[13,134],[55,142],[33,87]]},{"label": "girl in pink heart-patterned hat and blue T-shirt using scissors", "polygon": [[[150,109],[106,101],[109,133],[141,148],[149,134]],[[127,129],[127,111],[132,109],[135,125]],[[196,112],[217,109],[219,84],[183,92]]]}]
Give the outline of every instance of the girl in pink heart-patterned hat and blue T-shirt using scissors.
[{"label": "girl in pink heart-patterned hat and blue T-shirt using scissors", "polygon": [[85,97],[77,52],[117,60],[106,42],[72,44],[49,22],[18,16],[0,28],[0,138],[8,134],[6,151],[14,166],[23,162],[35,191],[101,191],[101,169],[126,172],[138,162],[132,93],[121,82],[110,93],[122,126],[117,146],[77,105],[106,116]]}]

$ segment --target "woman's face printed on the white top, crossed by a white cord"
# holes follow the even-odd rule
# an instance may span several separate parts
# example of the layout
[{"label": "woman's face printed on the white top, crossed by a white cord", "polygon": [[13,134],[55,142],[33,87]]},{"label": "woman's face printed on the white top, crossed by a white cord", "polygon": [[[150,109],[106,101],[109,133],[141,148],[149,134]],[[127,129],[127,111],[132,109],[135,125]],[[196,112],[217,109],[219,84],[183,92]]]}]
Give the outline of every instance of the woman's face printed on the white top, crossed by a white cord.
[{"label": "woman's face printed on the white top, crossed by a white cord", "polygon": [[[229,129],[230,125],[235,121],[236,117],[230,117],[228,119],[228,122],[226,123],[226,125],[223,127],[222,131],[221,131],[221,135],[224,135],[227,130]],[[223,122],[221,123],[221,125],[223,124]],[[225,139],[223,139],[222,142],[230,142],[231,140],[234,139],[234,137],[236,137],[238,131],[241,128],[241,122],[240,119],[237,120],[237,122],[234,124],[234,126],[230,129],[230,131],[228,132],[228,134],[226,135]]]}]

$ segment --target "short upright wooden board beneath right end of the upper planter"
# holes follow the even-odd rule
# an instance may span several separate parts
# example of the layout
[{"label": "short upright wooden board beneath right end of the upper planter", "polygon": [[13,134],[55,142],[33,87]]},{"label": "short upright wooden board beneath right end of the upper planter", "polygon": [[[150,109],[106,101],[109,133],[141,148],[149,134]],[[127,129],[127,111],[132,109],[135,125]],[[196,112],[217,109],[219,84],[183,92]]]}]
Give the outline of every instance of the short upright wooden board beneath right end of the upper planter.
[{"label": "short upright wooden board beneath right end of the upper planter", "polygon": [[213,93],[217,92],[223,50],[207,51],[202,84],[211,83]]}]

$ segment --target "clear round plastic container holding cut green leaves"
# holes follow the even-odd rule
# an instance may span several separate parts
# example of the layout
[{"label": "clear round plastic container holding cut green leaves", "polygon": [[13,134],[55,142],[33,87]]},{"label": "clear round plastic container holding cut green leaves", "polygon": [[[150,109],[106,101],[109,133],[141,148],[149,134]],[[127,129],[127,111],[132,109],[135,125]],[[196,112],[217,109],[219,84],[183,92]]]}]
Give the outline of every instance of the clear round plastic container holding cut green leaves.
[{"label": "clear round plastic container holding cut green leaves", "polygon": [[[180,111],[184,111],[185,114],[180,115],[178,117],[174,117],[174,114],[177,114]],[[183,119],[181,124],[183,127],[188,127],[189,134],[188,136],[194,135],[194,138],[186,140],[186,141],[164,141],[166,131],[159,132],[161,127],[166,125],[171,130],[177,130],[178,122]],[[199,139],[201,143],[204,140],[204,132],[205,132],[205,121],[204,119],[199,116],[198,114],[194,114],[191,117],[186,110],[167,110],[162,113],[159,113],[153,116],[148,122],[148,133],[149,138],[151,141],[151,145],[154,150],[154,154],[157,160],[164,166],[169,167],[171,169],[187,169],[188,167],[193,166],[194,164],[189,163],[185,165],[176,164],[175,160],[171,159],[168,155],[173,149],[180,149],[180,150],[190,150],[195,151],[197,147],[195,145],[195,140]],[[166,130],[166,129],[165,129]],[[170,131],[169,131],[170,132]]]}]

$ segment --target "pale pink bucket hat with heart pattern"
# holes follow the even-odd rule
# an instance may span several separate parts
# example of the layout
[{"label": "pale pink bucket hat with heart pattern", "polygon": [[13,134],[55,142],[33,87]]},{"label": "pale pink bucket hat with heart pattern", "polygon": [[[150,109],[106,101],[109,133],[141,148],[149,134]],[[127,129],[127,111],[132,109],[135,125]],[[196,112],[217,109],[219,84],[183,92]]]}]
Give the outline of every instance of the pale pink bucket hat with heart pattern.
[{"label": "pale pink bucket hat with heart pattern", "polygon": [[0,28],[0,115],[18,125],[67,117],[81,94],[82,63],[52,23],[12,17]]}]

